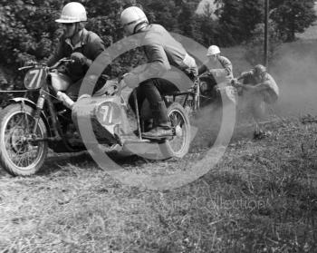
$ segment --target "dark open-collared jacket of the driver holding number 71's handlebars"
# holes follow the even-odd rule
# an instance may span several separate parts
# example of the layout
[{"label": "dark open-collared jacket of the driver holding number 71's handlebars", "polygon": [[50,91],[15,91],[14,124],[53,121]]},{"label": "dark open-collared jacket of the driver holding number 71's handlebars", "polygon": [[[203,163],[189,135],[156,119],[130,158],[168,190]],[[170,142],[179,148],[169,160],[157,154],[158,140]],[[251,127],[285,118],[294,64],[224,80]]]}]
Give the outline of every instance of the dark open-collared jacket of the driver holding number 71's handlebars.
[{"label": "dark open-collared jacket of the driver holding number 71's handlebars", "polygon": [[[65,39],[63,36],[60,38],[57,49],[48,60],[47,64],[52,66],[63,57],[70,57],[72,53],[79,52],[86,56],[91,61],[94,61],[102,51],[105,50],[105,44],[101,38],[86,29],[82,29],[80,42],[72,45],[70,39]],[[88,70],[88,66],[82,66],[77,63],[69,64],[68,75],[71,77],[72,82],[82,79]]]}]

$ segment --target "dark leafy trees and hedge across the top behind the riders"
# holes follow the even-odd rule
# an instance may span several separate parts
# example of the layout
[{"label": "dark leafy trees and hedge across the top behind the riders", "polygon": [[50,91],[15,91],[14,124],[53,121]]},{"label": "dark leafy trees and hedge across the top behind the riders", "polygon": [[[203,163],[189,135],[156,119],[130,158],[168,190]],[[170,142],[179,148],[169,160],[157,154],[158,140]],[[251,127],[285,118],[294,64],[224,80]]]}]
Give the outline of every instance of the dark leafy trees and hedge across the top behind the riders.
[{"label": "dark leafy trees and hedge across the top behind the riders", "polygon": [[[2,0],[0,3],[0,68],[15,69],[25,59],[42,60],[53,51],[62,33],[54,19],[60,15],[62,0]],[[187,35],[197,42],[220,46],[261,41],[259,27],[264,20],[264,0],[215,0],[217,19],[206,8],[196,14],[199,0],[82,0],[87,7],[87,28],[100,34],[106,44],[120,40],[120,11],[141,5],[154,23],[169,31]],[[271,24],[282,41],[292,41],[315,20],[313,0],[271,1]]]}]

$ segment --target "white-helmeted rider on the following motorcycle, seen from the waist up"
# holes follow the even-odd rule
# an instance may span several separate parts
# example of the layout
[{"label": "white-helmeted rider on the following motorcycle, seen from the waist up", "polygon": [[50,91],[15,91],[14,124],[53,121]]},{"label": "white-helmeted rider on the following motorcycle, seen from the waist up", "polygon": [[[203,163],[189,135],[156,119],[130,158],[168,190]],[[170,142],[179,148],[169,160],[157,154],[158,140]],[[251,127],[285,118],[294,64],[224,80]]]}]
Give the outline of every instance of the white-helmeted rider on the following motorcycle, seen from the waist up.
[{"label": "white-helmeted rider on the following motorcycle, seen from the waist up", "polygon": [[198,74],[205,72],[212,74],[218,85],[233,79],[232,63],[220,55],[219,47],[214,44],[207,49],[207,61],[198,68]]}]

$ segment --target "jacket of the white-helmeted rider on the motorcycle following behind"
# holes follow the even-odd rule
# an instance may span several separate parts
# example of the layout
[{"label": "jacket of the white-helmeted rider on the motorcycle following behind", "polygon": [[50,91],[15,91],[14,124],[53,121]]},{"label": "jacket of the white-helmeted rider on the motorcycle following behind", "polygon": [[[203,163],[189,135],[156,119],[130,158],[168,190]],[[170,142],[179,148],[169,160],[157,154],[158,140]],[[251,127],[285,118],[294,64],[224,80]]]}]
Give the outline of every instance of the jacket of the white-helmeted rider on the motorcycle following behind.
[{"label": "jacket of the white-helmeted rider on the motorcycle following behind", "polygon": [[216,83],[230,82],[234,77],[232,63],[228,58],[222,55],[217,56],[216,63],[212,63],[210,60],[203,63],[198,69],[198,74],[202,74],[207,71],[213,73]]}]

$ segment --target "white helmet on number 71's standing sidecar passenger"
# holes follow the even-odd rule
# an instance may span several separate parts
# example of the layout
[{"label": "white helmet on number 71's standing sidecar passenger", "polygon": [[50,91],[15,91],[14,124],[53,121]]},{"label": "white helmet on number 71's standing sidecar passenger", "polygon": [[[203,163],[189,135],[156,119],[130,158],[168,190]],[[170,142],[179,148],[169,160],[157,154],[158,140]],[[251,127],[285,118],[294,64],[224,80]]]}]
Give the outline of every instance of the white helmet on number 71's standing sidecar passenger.
[{"label": "white helmet on number 71's standing sidecar passenger", "polygon": [[136,6],[131,6],[122,11],[120,20],[123,28],[129,34],[135,34],[139,24],[149,24],[149,20],[144,12]]}]

